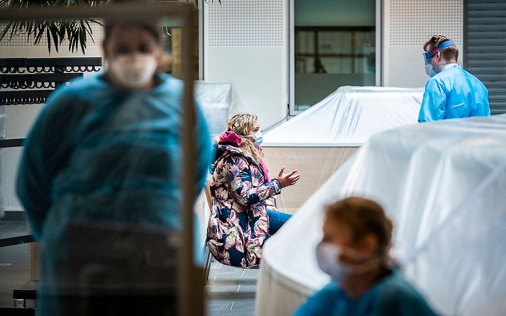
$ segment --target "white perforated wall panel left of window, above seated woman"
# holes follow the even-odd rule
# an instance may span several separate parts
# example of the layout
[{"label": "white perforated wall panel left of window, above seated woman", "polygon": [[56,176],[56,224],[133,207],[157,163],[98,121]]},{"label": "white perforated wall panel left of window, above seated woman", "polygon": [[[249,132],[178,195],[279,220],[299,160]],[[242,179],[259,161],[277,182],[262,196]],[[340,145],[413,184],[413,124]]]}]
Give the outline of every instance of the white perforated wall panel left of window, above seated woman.
[{"label": "white perforated wall panel left of window, above seated woman", "polygon": [[286,116],[286,0],[204,3],[203,79],[229,82],[262,129]]}]

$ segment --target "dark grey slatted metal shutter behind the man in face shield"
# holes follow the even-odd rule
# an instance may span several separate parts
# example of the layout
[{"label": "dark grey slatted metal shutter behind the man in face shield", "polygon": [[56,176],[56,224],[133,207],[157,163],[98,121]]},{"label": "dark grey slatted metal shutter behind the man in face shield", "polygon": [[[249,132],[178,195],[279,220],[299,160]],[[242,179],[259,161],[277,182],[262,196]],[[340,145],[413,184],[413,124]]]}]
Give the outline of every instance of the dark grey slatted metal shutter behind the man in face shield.
[{"label": "dark grey slatted metal shutter behind the man in face shield", "polygon": [[506,113],[506,0],[468,0],[465,8],[465,65],[487,87],[492,114]]}]

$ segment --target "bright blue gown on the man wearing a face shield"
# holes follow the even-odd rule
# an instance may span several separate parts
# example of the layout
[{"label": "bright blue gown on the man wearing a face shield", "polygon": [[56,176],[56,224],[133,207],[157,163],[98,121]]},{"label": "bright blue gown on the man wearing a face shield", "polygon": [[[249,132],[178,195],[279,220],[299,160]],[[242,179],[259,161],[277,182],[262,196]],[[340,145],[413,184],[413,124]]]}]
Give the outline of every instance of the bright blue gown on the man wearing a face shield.
[{"label": "bright blue gown on the man wearing a face shield", "polygon": [[427,81],[418,122],[489,115],[487,88],[455,64]]}]

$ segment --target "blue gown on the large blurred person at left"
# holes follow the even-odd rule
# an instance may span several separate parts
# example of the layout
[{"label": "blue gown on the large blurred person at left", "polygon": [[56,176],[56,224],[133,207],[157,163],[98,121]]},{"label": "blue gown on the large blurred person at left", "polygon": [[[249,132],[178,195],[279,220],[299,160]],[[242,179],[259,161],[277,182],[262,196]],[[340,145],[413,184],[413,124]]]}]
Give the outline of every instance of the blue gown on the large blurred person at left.
[{"label": "blue gown on the large blurred person at left", "polygon": [[[45,294],[58,287],[57,266],[72,247],[70,222],[180,228],[183,83],[158,78],[144,92],[114,88],[101,76],[77,80],[51,96],[29,132],[17,194],[42,249],[39,314],[54,313],[57,303]],[[198,107],[195,128],[196,197],[212,151]]]}]

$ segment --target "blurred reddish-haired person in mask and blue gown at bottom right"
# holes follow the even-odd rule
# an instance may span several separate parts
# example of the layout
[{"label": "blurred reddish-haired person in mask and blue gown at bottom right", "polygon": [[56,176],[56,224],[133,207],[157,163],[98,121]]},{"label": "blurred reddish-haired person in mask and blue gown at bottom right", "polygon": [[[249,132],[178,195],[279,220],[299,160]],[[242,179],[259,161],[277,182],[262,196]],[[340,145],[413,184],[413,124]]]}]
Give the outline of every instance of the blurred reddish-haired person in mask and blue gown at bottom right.
[{"label": "blurred reddish-haired person in mask and blue gown at bottom right", "polygon": [[373,201],[351,197],[328,206],[316,258],[332,281],[296,315],[435,315],[389,256],[392,229]]}]

